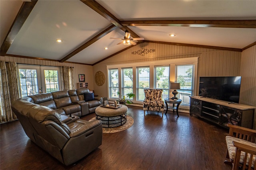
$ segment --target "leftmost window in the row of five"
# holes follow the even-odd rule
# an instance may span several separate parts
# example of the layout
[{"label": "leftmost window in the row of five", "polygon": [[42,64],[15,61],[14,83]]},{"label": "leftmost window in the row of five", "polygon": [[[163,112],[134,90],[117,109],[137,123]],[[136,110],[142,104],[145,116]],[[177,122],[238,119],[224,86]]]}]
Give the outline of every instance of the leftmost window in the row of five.
[{"label": "leftmost window in the row of five", "polygon": [[109,97],[110,98],[118,98],[118,69],[109,69]]}]

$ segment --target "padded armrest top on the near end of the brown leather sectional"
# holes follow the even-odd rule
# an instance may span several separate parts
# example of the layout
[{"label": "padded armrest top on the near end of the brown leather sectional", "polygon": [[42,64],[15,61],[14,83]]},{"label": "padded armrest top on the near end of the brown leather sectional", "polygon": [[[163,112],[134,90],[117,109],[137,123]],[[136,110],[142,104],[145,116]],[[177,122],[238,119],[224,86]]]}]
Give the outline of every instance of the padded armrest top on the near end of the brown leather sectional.
[{"label": "padded armrest top on the near end of the brown leather sectional", "polygon": [[76,123],[80,123],[80,127],[77,127],[74,131],[71,131],[70,137],[76,137],[83,133],[86,133],[90,129],[93,129],[94,127],[98,125],[102,125],[100,120],[94,120],[94,121],[85,121],[85,120],[77,120]]}]

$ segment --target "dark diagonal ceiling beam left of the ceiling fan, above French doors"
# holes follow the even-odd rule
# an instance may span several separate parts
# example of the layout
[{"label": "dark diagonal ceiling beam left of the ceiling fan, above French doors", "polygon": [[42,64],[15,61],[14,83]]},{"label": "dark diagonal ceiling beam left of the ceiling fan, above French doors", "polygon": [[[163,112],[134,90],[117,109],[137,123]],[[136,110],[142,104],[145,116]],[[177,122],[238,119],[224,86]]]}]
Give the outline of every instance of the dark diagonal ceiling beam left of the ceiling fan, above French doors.
[{"label": "dark diagonal ceiling beam left of the ceiling fan, above French doors", "polygon": [[111,31],[113,31],[116,28],[117,27],[115,25],[111,25],[110,27],[106,28],[104,31],[100,32],[98,35],[94,36],[92,39],[90,39],[89,41],[87,41],[86,43],[84,43],[83,45],[81,45],[80,47],[75,49],[74,51],[72,51],[66,57],[61,59],[60,63],[63,63],[64,61],[70,59],[72,56],[76,55],[77,53],[79,53],[80,51],[82,51],[83,49],[88,47],[89,45],[92,45],[92,43],[95,43],[96,41],[98,41],[99,39],[101,39],[102,37],[104,37],[105,35],[107,35],[108,33],[110,33]]}]

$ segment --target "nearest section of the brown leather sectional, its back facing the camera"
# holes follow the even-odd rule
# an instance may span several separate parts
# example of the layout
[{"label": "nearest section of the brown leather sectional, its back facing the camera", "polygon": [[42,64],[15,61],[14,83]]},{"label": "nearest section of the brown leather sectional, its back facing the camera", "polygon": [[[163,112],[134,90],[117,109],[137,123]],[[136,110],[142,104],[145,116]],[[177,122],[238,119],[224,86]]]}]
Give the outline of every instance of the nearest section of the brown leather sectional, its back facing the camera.
[{"label": "nearest section of the brown leather sectional, its back facing the camera", "polygon": [[52,108],[32,103],[24,97],[12,103],[28,137],[64,165],[70,165],[102,144],[101,121],[84,121],[60,115]]}]

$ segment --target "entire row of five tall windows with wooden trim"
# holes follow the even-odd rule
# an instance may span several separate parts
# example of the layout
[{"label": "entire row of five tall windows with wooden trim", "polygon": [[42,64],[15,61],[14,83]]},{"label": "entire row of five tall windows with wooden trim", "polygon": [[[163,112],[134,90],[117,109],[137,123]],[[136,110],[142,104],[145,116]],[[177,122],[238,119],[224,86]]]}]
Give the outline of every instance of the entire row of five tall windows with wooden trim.
[{"label": "entire row of five tall windows with wooden trim", "polygon": [[[125,63],[107,65],[108,98],[117,100],[117,92],[124,96],[130,92],[135,94],[134,103],[142,104],[145,99],[144,89],[163,89],[162,99],[171,98],[170,82],[181,82],[178,98],[183,106],[189,106],[190,98],[196,87],[198,57],[147,61],[141,63]],[[184,82],[184,83],[183,83]]]}]

